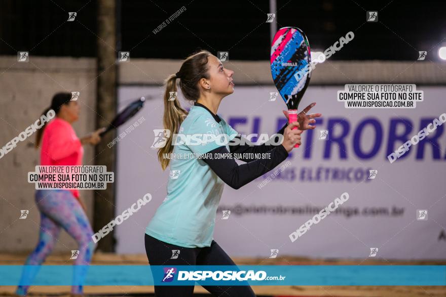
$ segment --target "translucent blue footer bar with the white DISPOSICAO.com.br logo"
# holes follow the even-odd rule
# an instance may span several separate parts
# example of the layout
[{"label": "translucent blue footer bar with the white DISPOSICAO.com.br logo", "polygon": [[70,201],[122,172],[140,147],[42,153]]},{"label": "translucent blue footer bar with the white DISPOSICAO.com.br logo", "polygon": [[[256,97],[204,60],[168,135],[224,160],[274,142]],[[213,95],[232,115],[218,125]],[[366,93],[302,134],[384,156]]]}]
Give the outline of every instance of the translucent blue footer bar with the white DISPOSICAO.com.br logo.
[{"label": "translucent blue footer bar with the white DISPOSICAO.com.br logo", "polygon": [[446,265],[0,266],[0,285],[445,286]]}]

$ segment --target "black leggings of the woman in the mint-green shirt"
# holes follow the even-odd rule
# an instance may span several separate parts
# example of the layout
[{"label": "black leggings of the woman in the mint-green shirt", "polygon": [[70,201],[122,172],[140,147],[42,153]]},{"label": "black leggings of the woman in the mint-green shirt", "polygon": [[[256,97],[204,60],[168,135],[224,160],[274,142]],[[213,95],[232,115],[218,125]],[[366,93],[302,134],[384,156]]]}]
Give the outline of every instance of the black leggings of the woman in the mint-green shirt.
[{"label": "black leggings of the woman in the mint-green shirt", "polygon": [[[145,251],[148,263],[151,265],[235,265],[228,254],[212,240],[209,247],[182,247],[158,240],[145,234]],[[172,249],[179,249],[177,259],[172,257]],[[198,282],[200,283],[200,282]],[[195,286],[155,286],[156,297],[188,297],[194,293]],[[207,286],[203,287],[216,297],[251,297],[254,296],[252,288],[247,286]]]}]

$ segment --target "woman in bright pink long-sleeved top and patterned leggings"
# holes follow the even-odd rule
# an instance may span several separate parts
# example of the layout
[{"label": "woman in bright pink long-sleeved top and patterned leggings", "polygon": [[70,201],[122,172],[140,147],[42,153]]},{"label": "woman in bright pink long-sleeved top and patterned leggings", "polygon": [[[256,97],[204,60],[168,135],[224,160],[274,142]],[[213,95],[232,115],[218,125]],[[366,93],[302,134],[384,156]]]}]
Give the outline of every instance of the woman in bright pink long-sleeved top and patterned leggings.
[{"label": "woman in bright pink long-sleeved top and patterned leggings", "polygon": [[[36,148],[42,140],[41,165],[82,165],[84,148],[82,145],[96,145],[100,141],[99,129],[89,136],[79,139],[71,123],[79,118],[79,105],[71,101],[71,94],[57,93],[51,106],[44,111],[47,114],[53,109],[56,117],[36,134]],[[79,197],[77,189],[72,190],[36,190],[35,202],[41,212],[39,242],[27,258],[25,265],[41,265],[53,249],[59,231],[63,228],[79,244],[77,258],[72,257],[75,265],[88,265],[91,261],[95,243],[92,240],[93,230],[85,214],[85,204]],[[70,251],[71,252],[71,251]],[[68,260],[68,259],[67,259]],[[26,267],[27,267],[26,266]],[[37,271],[25,268],[20,283],[29,283]],[[85,271],[78,269],[74,281],[83,279]],[[19,285],[16,293],[26,295],[28,285]],[[82,295],[82,285],[72,286],[72,295]]]}]

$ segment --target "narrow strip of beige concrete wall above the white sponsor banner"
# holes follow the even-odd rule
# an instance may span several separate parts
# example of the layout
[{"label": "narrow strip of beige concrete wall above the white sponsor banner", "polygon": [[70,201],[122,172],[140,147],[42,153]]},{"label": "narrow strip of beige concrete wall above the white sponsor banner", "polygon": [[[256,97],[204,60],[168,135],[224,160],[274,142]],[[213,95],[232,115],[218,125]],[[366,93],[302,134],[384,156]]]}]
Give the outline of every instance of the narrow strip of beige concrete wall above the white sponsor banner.
[{"label": "narrow strip of beige concrete wall above the white sponsor banner", "polygon": [[[228,61],[237,84],[271,85],[269,61]],[[179,70],[181,61],[131,59],[120,66],[121,84],[158,84]],[[151,71],[157,69],[157,71]],[[310,84],[416,83],[445,84],[446,63],[430,61],[330,61],[316,65]]]}]

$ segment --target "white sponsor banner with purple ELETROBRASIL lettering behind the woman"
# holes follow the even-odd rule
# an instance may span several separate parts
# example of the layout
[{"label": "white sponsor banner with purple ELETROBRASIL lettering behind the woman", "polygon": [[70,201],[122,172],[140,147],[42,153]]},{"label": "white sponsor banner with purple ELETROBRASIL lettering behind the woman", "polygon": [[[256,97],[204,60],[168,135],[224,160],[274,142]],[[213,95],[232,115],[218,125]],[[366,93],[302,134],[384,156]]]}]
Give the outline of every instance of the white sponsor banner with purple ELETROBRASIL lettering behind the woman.
[{"label": "white sponsor banner with purple ELETROBRASIL lettering behind the woman", "polygon": [[[337,100],[344,86],[309,87],[300,110],[316,102],[322,113],[317,129],[305,131],[281,165],[248,185],[229,186],[217,210],[214,239],[233,257],[280,256],[385,259],[446,258],[446,132],[439,125],[398,160],[387,156],[446,112],[446,88],[417,86],[424,101],[411,109],[345,108]],[[144,229],[166,196],[169,170],[162,171],[157,150],[151,149],[154,129],[164,129],[164,90],[124,86],[119,101],[152,95],[136,117],[146,119],[118,145],[117,210],[150,192],[150,207],[118,226],[117,251],[145,252]],[[274,86],[236,87],[218,113],[242,134],[274,134],[284,123],[280,96]],[[184,107],[189,104],[178,96]],[[118,131],[118,134],[122,132]],[[290,162],[290,163],[287,163]],[[305,235],[289,235],[314,218],[342,193],[349,199]],[[204,206],[203,206],[204,207]],[[228,210],[230,212],[228,212]],[[426,211],[423,213],[423,211]],[[229,214],[225,219],[222,213]],[[174,218],[166,218],[166,220]]]}]

